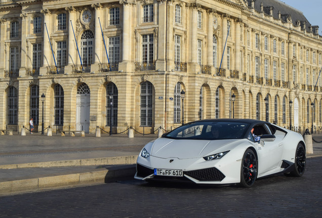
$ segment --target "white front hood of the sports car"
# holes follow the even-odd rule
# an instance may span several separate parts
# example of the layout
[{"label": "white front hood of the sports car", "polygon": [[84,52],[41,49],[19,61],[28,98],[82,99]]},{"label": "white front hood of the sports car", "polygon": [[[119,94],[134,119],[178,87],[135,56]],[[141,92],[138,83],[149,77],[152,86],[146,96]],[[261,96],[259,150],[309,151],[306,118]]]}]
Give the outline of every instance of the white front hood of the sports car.
[{"label": "white front hood of the sports car", "polygon": [[[219,149],[239,139],[187,140],[159,138],[154,141],[151,155],[160,158],[198,158],[225,150]],[[212,153],[214,152],[214,153]]]}]

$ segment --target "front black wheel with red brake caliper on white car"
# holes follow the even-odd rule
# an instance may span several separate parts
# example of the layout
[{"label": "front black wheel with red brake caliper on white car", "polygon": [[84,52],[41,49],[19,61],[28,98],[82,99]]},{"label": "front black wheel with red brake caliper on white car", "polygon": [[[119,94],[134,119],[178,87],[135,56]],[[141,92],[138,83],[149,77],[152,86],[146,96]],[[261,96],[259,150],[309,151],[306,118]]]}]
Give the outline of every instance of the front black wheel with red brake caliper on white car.
[{"label": "front black wheel with red brake caliper on white car", "polygon": [[253,150],[247,149],[240,168],[240,187],[251,187],[257,178],[257,159]]}]

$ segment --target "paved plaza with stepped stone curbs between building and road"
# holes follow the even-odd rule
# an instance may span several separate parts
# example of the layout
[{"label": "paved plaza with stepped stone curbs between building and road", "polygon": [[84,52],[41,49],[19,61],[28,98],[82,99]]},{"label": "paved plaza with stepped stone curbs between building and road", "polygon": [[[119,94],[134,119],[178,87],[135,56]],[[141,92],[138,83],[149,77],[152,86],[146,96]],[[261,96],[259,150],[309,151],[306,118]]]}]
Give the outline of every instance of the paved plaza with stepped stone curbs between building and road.
[{"label": "paved plaza with stepped stone curbs between building and road", "polygon": [[[0,195],[116,181],[135,175],[136,158],[157,134],[0,136]],[[321,136],[313,135],[317,141]],[[321,156],[322,143],[313,142]]]}]

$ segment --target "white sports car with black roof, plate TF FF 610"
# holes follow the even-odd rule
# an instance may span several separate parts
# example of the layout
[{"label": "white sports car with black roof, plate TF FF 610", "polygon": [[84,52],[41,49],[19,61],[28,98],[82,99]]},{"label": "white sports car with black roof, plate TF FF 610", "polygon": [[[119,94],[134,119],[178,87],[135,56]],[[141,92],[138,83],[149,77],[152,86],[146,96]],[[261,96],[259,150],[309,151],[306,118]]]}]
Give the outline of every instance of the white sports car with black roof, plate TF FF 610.
[{"label": "white sports car with black roof, plate TF FF 610", "polygon": [[273,174],[301,177],[305,160],[299,133],[258,120],[201,120],[146,144],[134,178],[251,187]]}]

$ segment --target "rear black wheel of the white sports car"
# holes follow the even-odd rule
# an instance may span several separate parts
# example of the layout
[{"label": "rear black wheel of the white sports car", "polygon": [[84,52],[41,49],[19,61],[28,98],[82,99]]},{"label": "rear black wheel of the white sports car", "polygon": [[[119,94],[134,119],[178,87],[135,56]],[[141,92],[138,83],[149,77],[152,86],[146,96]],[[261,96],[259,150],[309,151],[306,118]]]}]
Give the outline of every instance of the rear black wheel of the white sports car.
[{"label": "rear black wheel of the white sports car", "polygon": [[305,172],[306,166],[306,152],[304,145],[299,143],[295,152],[294,170],[291,171],[290,176],[301,177]]}]

